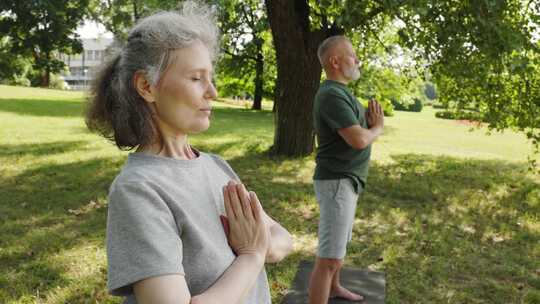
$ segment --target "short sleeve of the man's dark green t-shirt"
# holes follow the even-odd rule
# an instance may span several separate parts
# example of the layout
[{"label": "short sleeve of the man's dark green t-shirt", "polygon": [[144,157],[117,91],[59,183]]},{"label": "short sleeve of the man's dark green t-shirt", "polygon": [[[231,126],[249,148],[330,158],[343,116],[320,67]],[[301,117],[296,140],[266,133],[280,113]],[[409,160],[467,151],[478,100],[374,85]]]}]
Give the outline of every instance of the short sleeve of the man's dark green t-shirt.
[{"label": "short sleeve of the man's dark green t-shirt", "polygon": [[334,131],[359,124],[353,108],[338,94],[328,93],[324,97],[320,106],[320,116]]}]

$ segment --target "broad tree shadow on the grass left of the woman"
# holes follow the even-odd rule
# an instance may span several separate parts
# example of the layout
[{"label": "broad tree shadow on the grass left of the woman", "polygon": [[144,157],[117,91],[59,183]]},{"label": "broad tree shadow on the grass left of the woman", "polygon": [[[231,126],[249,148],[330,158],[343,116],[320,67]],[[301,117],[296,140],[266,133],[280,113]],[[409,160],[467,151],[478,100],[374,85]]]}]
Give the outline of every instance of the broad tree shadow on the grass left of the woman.
[{"label": "broad tree shadow on the grass left of the woman", "polygon": [[80,243],[103,244],[104,196],[123,161],[49,164],[0,177],[0,285],[9,292],[0,302],[64,286],[69,265],[55,263],[54,256]]}]

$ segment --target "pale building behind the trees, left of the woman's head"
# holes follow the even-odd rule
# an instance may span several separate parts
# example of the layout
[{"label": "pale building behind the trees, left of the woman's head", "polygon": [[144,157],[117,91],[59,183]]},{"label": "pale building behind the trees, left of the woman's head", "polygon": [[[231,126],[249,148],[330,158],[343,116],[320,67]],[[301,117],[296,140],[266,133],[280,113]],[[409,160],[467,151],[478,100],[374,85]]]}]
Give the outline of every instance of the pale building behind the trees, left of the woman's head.
[{"label": "pale building behind the trees, left of the woman's head", "polygon": [[68,71],[62,76],[70,90],[86,90],[89,88],[97,68],[105,59],[107,47],[112,43],[112,38],[105,37],[82,39],[82,53],[59,55],[59,59],[64,61],[68,68]]}]

